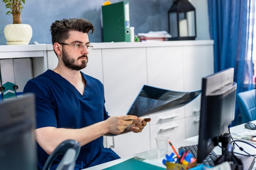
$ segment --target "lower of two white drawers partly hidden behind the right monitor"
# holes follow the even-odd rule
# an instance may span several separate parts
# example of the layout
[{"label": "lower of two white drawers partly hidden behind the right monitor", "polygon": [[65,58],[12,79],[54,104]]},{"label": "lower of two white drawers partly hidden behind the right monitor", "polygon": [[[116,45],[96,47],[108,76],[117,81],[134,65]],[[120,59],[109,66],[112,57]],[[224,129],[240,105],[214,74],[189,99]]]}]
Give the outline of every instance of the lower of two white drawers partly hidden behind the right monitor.
[{"label": "lower of two white drawers partly hidden behind the right monitor", "polygon": [[199,134],[200,115],[186,117],[186,138],[193,137]]}]

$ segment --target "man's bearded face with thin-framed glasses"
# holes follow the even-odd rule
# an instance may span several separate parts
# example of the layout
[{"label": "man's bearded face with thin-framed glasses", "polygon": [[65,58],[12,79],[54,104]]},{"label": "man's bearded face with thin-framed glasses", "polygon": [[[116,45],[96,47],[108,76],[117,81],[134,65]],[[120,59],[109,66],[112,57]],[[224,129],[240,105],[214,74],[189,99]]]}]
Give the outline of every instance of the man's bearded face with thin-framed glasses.
[{"label": "man's bearded face with thin-framed glasses", "polygon": [[[67,44],[90,44],[88,34],[81,33],[79,31],[70,31],[70,36],[65,40]],[[63,45],[61,59],[63,64],[72,70],[81,70],[87,66],[88,62],[88,49],[84,48],[76,49],[72,45]]]}]

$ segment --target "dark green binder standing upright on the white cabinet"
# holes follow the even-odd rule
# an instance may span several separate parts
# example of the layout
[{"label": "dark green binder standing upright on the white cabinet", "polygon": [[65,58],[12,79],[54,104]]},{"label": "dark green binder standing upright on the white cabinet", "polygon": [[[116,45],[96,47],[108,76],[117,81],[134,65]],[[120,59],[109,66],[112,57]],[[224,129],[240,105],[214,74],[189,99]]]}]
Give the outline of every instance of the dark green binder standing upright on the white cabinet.
[{"label": "dark green binder standing upright on the white cabinet", "polygon": [[129,1],[101,7],[103,42],[130,42]]}]

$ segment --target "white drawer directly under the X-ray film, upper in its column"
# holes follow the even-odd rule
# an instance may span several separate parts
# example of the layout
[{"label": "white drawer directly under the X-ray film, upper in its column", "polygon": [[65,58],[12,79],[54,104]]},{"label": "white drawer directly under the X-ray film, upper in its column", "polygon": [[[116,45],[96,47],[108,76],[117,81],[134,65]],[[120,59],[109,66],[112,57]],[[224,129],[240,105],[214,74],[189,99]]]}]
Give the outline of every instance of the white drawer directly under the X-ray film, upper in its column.
[{"label": "white drawer directly under the X-ray film, upper in its column", "polygon": [[185,108],[177,108],[166,112],[150,115],[150,126],[155,124],[162,124],[169,121],[174,121],[185,117]]}]

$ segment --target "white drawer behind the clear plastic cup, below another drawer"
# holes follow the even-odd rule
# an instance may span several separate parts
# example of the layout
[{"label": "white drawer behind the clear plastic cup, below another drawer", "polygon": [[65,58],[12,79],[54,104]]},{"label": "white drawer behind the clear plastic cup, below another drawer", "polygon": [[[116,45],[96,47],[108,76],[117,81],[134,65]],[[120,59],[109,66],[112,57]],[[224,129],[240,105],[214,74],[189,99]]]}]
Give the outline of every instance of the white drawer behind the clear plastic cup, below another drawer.
[{"label": "white drawer behind the clear plastic cup, below another drawer", "polygon": [[185,139],[185,129],[184,119],[150,126],[150,149],[157,147],[155,142],[155,137],[157,136],[170,137],[172,142]]}]

